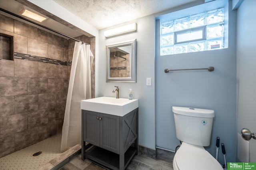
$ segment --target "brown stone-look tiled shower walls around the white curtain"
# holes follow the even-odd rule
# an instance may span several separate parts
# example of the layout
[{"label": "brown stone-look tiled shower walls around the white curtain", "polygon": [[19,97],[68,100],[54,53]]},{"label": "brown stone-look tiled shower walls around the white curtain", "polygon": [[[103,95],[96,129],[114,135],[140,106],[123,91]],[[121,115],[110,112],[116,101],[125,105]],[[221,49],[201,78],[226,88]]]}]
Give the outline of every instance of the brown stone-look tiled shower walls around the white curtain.
[{"label": "brown stone-look tiled shower walls around the white curtain", "polygon": [[[71,66],[33,60],[72,61],[74,41],[0,14],[0,33],[14,36],[14,53],[32,61],[0,59],[0,157],[61,133]],[[95,38],[76,37],[91,44]],[[28,57],[30,58],[30,57]],[[94,97],[95,65],[92,69]]]}]

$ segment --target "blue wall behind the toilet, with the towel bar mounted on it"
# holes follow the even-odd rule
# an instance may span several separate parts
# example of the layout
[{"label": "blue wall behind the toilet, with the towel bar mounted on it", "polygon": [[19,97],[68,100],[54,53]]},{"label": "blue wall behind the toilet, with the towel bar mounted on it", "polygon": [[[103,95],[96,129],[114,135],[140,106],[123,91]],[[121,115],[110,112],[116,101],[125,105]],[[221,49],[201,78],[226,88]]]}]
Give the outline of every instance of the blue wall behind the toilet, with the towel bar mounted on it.
[{"label": "blue wall behind the toilet, with the towel bar mounted on it", "polygon": [[[220,137],[220,142],[226,147],[227,161],[236,160],[236,11],[231,11],[231,6],[228,37],[226,49],[167,56],[156,55],[157,147],[175,150],[179,145],[172,106],[213,109],[215,117],[212,139],[210,146],[206,149],[215,157],[216,137]],[[193,70],[164,73],[165,68],[207,68],[209,66],[214,66],[213,72]],[[219,160],[224,163],[221,149],[219,153]]]}]

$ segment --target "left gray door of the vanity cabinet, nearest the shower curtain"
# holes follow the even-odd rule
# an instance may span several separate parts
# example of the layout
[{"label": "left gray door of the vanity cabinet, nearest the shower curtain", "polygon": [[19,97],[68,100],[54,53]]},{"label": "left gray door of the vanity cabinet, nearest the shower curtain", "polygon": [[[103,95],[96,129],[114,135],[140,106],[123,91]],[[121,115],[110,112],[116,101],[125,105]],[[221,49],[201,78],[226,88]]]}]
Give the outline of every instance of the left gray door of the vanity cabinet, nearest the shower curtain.
[{"label": "left gray door of the vanity cabinet, nearest the shower curtain", "polygon": [[86,142],[100,147],[100,113],[86,111],[84,116],[84,139]]}]

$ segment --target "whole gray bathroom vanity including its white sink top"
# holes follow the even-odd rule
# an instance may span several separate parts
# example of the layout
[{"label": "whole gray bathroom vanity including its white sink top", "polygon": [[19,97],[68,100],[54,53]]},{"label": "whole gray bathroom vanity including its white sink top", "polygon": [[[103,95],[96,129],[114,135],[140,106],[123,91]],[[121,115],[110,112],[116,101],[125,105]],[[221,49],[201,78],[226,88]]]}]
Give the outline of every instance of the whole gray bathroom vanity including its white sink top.
[{"label": "whole gray bathroom vanity including its white sink top", "polygon": [[[138,100],[89,99],[81,101],[81,109],[82,160],[89,158],[113,170],[124,170],[138,154]],[[92,145],[87,150],[86,142]]]}]

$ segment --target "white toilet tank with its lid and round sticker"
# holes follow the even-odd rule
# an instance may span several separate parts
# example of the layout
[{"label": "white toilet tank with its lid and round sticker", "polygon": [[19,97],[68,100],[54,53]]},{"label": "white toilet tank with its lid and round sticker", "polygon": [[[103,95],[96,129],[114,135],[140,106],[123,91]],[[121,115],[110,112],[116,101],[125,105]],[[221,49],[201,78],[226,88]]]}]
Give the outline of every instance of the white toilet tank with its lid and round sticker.
[{"label": "white toilet tank with its lid and round sticker", "polygon": [[202,147],[210,145],[214,110],[173,106],[172,111],[180,141]]}]

